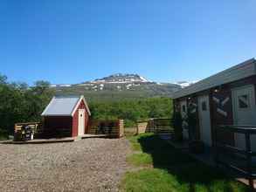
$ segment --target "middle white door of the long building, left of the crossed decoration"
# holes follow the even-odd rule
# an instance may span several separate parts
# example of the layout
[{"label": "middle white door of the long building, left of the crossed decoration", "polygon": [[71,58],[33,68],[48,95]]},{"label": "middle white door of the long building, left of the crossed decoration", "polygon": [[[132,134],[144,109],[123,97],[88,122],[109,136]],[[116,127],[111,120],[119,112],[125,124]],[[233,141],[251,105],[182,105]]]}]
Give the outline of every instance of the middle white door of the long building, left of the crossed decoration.
[{"label": "middle white door of the long building, left of the crossed decoration", "polygon": [[208,95],[198,97],[198,116],[201,141],[205,145],[211,146],[211,117]]}]

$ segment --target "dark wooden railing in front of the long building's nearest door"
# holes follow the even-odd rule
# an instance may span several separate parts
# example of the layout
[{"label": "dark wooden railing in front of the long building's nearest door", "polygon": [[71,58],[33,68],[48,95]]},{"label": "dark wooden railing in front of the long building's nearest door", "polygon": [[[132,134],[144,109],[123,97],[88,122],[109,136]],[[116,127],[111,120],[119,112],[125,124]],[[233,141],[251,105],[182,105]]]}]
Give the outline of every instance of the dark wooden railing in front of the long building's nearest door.
[{"label": "dark wooden railing in front of the long building's nearest door", "polygon": [[[218,139],[219,132],[229,132],[231,134],[245,135],[245,147],[235,147],[225,144],[225,141]],[[256,127],[248,126],[218,126],[215,128],[214,149],[215,161],[217,165],[224,165],[232,168],[240,175],[245,176],[251,188],[254,189],[253,179],[256,179],[256,152],[252,150],[251,139],[252,135],[256,135]],[[228,158],[227,156],[230,156]]]}]

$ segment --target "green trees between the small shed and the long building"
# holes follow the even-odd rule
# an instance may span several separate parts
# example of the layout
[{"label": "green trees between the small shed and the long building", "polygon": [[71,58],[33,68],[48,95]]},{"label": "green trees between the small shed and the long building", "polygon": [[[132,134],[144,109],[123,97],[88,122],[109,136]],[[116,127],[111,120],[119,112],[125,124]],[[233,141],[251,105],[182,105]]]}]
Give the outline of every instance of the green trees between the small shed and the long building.
[{"label": "green trees between the small shed and the long building", "polygon": [[127,127],[135,126],[136,120],[149,118],[170,118],[170,98],[129,99],[117,102],[91,102],[94,119],[123,119]]}]

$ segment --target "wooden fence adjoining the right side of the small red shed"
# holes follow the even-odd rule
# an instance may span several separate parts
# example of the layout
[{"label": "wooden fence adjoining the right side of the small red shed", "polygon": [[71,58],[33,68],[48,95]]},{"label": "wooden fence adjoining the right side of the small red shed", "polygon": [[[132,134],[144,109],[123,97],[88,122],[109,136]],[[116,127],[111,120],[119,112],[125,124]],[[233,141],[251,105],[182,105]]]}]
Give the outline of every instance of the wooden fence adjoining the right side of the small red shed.
[{"label": "wooden fence adjoining the right side of the small red shed", "polygon": [[123,120],[90,120],[86,134],[107,134],[109,137],[124,136]]}]

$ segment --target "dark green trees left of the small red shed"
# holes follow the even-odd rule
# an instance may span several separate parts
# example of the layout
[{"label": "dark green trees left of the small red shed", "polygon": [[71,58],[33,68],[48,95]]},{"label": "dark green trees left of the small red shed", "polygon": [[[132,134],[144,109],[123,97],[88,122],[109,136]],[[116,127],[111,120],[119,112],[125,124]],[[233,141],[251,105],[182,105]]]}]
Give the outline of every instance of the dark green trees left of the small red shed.
[{"label": "dark green trees left of the small red shed", "polygon": [[16,122],[41,120],[40,113],[54,94],[49,85],[46,81],[33,86],[10,83],[0,75],[0,134],[12,134]]}]

